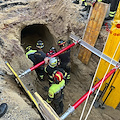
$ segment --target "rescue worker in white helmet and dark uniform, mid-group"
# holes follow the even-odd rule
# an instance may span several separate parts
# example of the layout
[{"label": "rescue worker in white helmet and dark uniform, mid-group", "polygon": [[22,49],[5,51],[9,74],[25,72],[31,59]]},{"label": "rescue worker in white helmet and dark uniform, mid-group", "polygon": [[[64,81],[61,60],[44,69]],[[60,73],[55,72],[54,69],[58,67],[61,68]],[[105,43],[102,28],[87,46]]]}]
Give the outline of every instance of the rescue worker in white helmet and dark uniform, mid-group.
[{"label": "rescue worker in white helmet and dark uniform, mid-group", "polygon": [[50,58],[48,65],[45,67],[45,72],[48,74],[48,79],[49,79],[49,86],[52,85],[52,83],[54,82],[52,74],[54,73],[54,71],[59,70],[60,72],[62,72],[62,74],[64,75],[64,78],[66,79],[67,73],[62,69],[59,68],[60,61],[58,59],[58,57],[53,57]]}]

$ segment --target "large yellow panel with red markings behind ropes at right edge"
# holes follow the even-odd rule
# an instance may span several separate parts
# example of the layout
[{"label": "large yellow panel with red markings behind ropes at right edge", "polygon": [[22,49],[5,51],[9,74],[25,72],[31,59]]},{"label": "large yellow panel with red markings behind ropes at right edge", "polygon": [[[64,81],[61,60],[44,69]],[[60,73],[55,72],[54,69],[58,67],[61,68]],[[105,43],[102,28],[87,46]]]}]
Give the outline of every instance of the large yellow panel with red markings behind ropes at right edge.
[{"label": "large yellow panel with red markings behind ropes at right edge", "polygon": [[[120,28],[116,28],[116,23],[120,23],[120,4],[119,4],[119,7],[118,7],[118,10],[116,12],[116,15],[115,15],[115,18],[114,18],[114,21],[113,21],[113,25],[111,27],[111,31],[108,35],[108,39],[107,39],[107,42],[106,42],[106,45],[104,47],[104,51],[103,53],[106,54],[107,56],[109,57],[113,57],[114,53],[115,53],[115,50],[120,42]],[[114,60],[116,61],[119,61],[120,60],[120,46],[116,52],[116,55],[114,57]],[[104,77],[105,73],[106,73],[106,70],[109,66],[109,63],[104,61],[103,59],[100,59],[100,63],[98,65],[98,69],[97,69],[97,74],[95,76],[95,80],[97,78],[101,79]],[[110,66],[110,69],[112,69],[114,66]],[[110,71],[109,69],[109,71]],[[104,89],[105,87],[105,84],[108,83],[110,80],[107,79],[103,85],[102,85],[102,88],[101,88],[101,91]],[[117,105],[119,104],[120,102],[120,70],[117,70],[106,93],[104,94],[103,98],[102,98],[102,101],[105,100],[105,98],[107,97],[108,93],[110,92],[110,89],[111,89],[111,86],[114,86],[115,89],[112,90],[112,92],[110,93],[109,97],[107,98],[105,104],[108,105],[108,106],[111,106],[113,108],[116,108]]]}]

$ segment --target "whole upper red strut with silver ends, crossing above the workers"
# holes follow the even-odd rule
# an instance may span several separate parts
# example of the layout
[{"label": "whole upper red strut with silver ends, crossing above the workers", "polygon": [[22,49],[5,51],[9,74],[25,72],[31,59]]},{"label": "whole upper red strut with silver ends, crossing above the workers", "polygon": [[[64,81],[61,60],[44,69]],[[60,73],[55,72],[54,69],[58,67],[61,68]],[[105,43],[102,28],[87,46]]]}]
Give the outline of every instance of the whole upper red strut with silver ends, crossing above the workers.
[{"label": "whole upper red strut with silver ends, crossing above the workers", "polygon": [[[57,53],[55,53],[54,55],[52,55],[51,58],[60,55],[60,54],[63,53],[64,51],[70,49],[71,47],[73,47],[74,45],[76,45],[77,43],[79,43],[80,41],[81,41],[81,40],[75,41],[74,43],[70,44],[69,46],[65,47],[64,49],[62,49],[62,50],[58,51]],[[42,61],[42,62],[36,64],[35,66],[27,69],[25,72],[23,72],[23,73],[22,73],[21,75],[19,75],[18,77],[24,76],[25,74],[27,74],[27,73],[35,70],[36,68],[38,68],[39,66],[43,65],[44,63],[45,63],[45,61]]]}]

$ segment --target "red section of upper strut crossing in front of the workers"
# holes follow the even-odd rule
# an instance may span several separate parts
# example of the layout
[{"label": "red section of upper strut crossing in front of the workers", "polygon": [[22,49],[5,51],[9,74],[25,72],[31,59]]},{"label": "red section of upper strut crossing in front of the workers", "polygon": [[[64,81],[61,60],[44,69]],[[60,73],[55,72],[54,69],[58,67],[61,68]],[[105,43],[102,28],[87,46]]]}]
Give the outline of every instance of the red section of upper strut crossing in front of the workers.
[{"label": "red section of upper strut crossing in front of the workers", "polygon": [[[70,44],[69,46],[65,47],[64,49],[58,51],[57,53],[55,53],[54,55],[52,55],[51,57],[55,57],[60,55],[61,53],[63,53],[64,51],[70,49],[71,47],[73,47],[75,45],[75,43]],[[38,63],[37,65],[33,66],[30,68],[31,71],[35,70],[36,68],[38,68],[39,66],[43,65],[45,63],[45,61],[42,61],[40,63]]]}]

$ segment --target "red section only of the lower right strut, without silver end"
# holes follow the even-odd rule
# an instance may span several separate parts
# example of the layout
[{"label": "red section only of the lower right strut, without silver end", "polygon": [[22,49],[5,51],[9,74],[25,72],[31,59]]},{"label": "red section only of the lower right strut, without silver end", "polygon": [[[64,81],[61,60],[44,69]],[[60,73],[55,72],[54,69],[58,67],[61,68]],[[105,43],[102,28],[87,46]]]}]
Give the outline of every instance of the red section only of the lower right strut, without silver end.
[{"label": "red section only of the lower right strut, without silver end", "polygon": [[[104,80],[103,78],[95,85],[92,87],[92,89],[95,91],[99,86],[100,84],[102,83],[102,80],[103,82],[108,78],[110,77],[114,72],[116,71],[116,68],[112,69],[105,77],[104,77]],[[90,90],[90,94],[89,94],[89,91],[84,94],[74,105],[72,105],[74,107],[74,109],[76,109],[83,101],[85,101],[85,99],[87,98],[88,94],[89,96],[94,92],[92,90]]]}]

